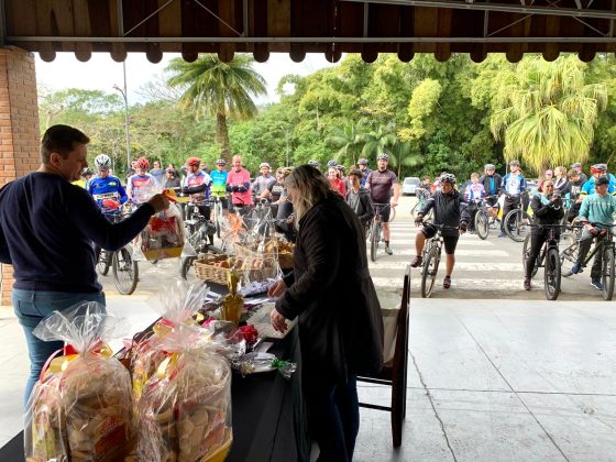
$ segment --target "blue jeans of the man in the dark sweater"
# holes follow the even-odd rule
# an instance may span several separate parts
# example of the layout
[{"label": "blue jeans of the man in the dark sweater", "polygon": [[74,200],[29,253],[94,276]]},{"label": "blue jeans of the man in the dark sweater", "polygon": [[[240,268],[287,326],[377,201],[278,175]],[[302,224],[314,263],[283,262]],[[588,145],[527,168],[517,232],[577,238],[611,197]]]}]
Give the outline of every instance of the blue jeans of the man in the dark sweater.
[{"label": "blue jeans of the man in the dark sweater", "polygon": [[35,337],[32,331],[43,319],[53,311],[64,311],[80,301],[98,301],[105,305],[105,294],[73,294],[66,292],[42,292],[13,289],[13,310],[23,327],[28,353],[30,355],[30,376],[25,385],[23,398],[28,404],[34,384],[41,375],[41,370],[50,355],[64,346],[64,342],[44,342]]}]

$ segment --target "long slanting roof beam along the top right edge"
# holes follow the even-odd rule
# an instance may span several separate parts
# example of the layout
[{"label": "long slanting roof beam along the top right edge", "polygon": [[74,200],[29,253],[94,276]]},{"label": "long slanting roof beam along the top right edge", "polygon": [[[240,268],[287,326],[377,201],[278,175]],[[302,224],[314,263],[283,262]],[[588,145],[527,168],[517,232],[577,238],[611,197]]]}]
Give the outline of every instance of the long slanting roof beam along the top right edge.
[{"label": "long slanting roof beam along the top right edge", "polygon": [[398,4],[416,8],[442,8],[451,10],[498,11],[518,14],[543,14],[552,16],[616,19],[615,11],[579,10],[576,8],[514,7],[503,3],[466,3],[453,0],[340,0],[355,3]]}]

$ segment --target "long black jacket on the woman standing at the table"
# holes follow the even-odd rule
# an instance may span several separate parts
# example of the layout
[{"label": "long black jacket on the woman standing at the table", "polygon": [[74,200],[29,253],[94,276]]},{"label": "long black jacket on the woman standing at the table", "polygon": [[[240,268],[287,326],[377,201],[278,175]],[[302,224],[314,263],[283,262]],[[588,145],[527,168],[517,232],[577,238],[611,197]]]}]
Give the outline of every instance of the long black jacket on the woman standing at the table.
[{"label": "long black jacket on the woman standing at the table", "polygon": [[302,375],[344,383],[381,371],[383,318],[363,229],[338,194],[301,218],[294,260],[276,309],[287,319],[299,316]]}]

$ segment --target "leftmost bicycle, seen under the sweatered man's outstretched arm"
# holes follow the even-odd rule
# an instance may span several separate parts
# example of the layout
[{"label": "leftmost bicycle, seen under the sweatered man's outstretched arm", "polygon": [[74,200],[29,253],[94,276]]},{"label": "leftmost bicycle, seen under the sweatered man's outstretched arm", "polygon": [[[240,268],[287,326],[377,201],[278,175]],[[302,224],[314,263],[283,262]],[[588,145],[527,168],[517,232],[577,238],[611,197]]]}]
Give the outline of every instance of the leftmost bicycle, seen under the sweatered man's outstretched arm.
[{"label": "leftmost bicycle, seen under the sweatered man's outstretched arm", "polygon": [[[123,216],[114,215],[107,216],[107,218],[117,223],[122,221]],[[135,292],[139,282],[139,265],[138,262],[133,260],[133,249],[131,244],[127,244],[114,252],[101,249],[96,267],[102,276],[106,276],[111,267],[113,284],[118,293],[131,295]]]}]

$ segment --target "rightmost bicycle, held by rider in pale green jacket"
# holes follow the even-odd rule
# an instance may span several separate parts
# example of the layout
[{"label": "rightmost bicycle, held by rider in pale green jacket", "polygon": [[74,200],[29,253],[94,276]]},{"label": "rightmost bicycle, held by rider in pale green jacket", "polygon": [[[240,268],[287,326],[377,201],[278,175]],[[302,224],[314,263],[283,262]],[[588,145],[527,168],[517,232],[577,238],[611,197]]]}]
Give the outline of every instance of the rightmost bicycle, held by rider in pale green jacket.
[{"label": "rightmost bicycle, held by rider in pale green jacket", "polygon": [[[615,245],[614,245],[614,233],[612,231],[614,224],[606,223],[591,223],[592,226],[605,227],[604,234],[597,234],[597,243],[594,249],[588,252],[584,261],[582,262],[582,268],[586,267],[588,262],[597,254],[597,252],[603,252],[602,271],[601,271],[601,282],[603,284],[603,298],[605,300],[612,300],[614,297],[614,282],[615,282]],[[581,227],[580,227],[581,228]],[[578,261],[578,255],[580,253],[580,239],[573,241],[568,248],[565,248],[561,253],[561,264],[566,262],[566,265],[571,267]],[[569,276],[569,273],[566,275]]]}]

